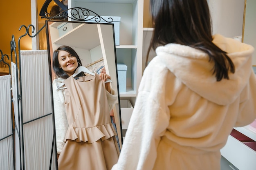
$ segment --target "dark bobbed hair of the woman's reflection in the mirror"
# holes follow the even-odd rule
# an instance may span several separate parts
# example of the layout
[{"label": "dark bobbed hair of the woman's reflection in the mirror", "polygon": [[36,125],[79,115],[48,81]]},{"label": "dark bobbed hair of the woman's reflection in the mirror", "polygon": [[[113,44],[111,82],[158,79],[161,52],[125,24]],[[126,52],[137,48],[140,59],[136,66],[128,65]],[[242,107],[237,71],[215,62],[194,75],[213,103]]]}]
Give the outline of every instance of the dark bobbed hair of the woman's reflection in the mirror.
[{"label": "dark bobbed hair of the woman's reflection in the mirror", "polygon": [[67,51],[71,55],[75,56],[79,66],[82,66],[82,62],[81,62],[78,54],[76,53],[76,51],[74,51],[74,49],[72,49],[70,46],[65,46],[65,45],[60,46],[60,47],[58,47],[58,49],[56,49],[53,52],[52,67],[53,67],[53,70],[54,70],[55,74],[58,77],[62,77],[64,79],[67,79],[69,76],[67,75],[67,73],[65,71],[63,71],[62,68],[60,68],[60,64],[58,62],[58,52],[60,50]]}]

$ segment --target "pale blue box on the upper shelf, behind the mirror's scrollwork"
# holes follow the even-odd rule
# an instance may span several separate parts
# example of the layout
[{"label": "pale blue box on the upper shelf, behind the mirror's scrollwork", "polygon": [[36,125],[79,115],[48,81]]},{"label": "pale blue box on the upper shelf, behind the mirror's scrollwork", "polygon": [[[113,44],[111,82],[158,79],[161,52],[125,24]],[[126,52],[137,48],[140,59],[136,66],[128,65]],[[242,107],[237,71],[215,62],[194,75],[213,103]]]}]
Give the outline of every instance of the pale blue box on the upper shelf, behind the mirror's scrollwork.
[{"label": "pale blue box on the upper shelf, behind the mirror's scrollwork", "polygon": [[[91,20],[88,20],[86,22],[96,22],[95,18],[93,18],[94,16],[89,16],[90,18],[92,18]],[[115,44],[116,45],[120,45],[119,43],[119,35],[120,35],[120,21],[121,21],[121,17],[111,17],[111,16],[101,16],[104,20],[110,22],[112,21],[111,19],[108,18],[112,18],[113,22],[111,22],[111,24],[114,24],[114,33],[115,33]],[[99,19],[97,19],[99,20]],[[106,21],[104,21],[101,19],[101,21],[99,23],[108,23]]]}]

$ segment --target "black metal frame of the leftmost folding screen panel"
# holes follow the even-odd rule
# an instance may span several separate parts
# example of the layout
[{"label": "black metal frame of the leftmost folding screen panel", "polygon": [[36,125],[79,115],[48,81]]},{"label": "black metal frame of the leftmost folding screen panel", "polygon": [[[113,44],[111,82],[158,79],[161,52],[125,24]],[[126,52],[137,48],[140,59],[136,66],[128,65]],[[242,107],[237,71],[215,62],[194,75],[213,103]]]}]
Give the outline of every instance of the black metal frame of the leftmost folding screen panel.
[{"label": "black metal frame of the leftmost folding screen panel", "polygon": [[[10,64],[7,63],[6,61],[4,61],[4,57],[7,57],[8,60],[9,60],[9,56],[8,56],[7,54],[4,54],[4,53],[2,52],[2,50],[0,50],[0,53],[1,53],[0,62],[3,62],[4,64],[6,64],[6,65],[8,66],[8,68],[9,68],[9,75],[11,75],[11,67],[10,67]],[[10,82],[10,84],[11,84],[11,82]],[[10,86],[10,99],[11,99],[11,96],[12,96],[12,94],[11,94],[11,86]],[[9,135],[3,137],[2,139],[0,139],[0,141],[6,139],[6,138],[8,138],[8,137],[12,137],[13,169],[15,169],[15,159],[14,159],[14,158],[15,158],[15,145],[14,145],[14,130],[15,130],[15,129],[13,128],[13,105],[12,105],[12,99],[10,100],[10,105],[11,105],[11,129],[12,129],[12,132],[11,132],[11,134],[9,134]]]}]

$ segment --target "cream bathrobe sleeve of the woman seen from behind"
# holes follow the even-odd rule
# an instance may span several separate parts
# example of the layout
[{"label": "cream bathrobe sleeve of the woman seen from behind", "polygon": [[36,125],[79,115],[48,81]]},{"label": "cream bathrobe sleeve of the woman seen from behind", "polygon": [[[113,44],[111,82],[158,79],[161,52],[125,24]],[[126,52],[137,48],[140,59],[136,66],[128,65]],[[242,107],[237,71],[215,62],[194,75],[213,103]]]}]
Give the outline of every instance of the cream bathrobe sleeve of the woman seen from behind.
[{"label": "cream bathrobe sleeve of the woman seen from behind", "polygon": [[[117,164],[112,170],[152,170],[157,146],[169,125],[175,77],[152,60],[144,71]],[[170,95],[172,93],[173,95]],[[168,95],[166,95],[168,94]]]}]

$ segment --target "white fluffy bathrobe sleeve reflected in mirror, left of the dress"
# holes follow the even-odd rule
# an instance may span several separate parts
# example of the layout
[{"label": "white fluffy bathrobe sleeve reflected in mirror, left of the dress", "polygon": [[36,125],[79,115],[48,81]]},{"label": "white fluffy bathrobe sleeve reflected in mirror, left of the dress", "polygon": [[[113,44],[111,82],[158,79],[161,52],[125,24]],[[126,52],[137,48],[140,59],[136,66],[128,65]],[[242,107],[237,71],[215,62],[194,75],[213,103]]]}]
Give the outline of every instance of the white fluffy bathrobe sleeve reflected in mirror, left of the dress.
[{"label": "white fluffy bathrobe sleeve reflected in mirror, left of the dress", "polygon": [[67,116],[65,111],[65,92],[58,89],[56,79],[52,83],[53,87],[53,100],[54,100],[54,119],[56,130],[56,147],[57,153],[60,154],[65,144],[64,138],[68,128]]}]

